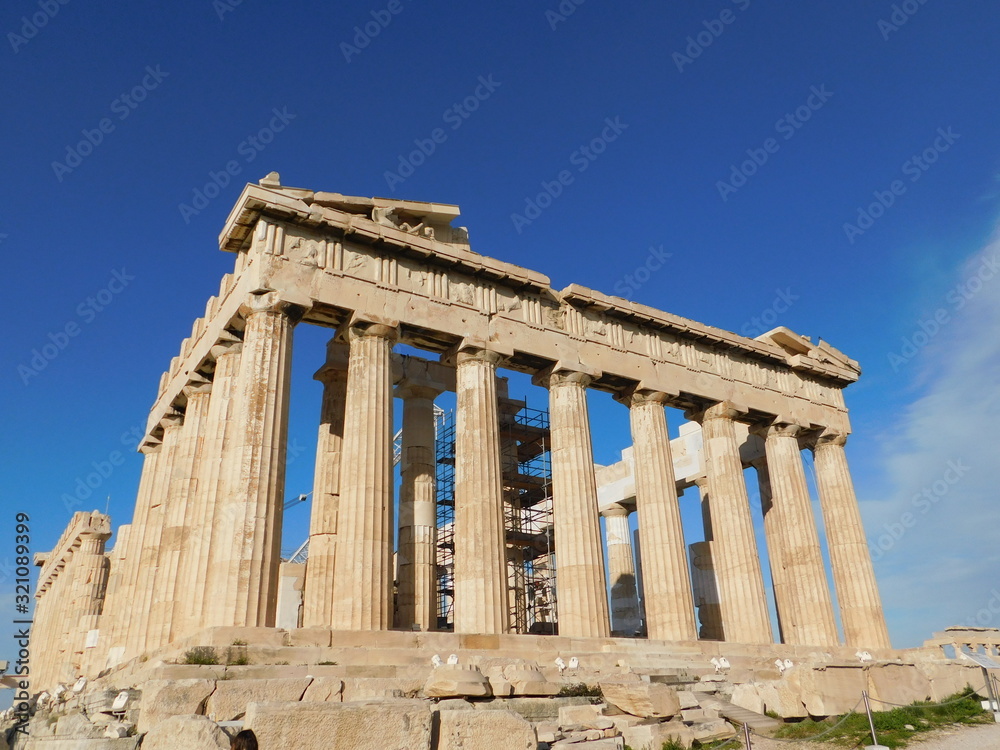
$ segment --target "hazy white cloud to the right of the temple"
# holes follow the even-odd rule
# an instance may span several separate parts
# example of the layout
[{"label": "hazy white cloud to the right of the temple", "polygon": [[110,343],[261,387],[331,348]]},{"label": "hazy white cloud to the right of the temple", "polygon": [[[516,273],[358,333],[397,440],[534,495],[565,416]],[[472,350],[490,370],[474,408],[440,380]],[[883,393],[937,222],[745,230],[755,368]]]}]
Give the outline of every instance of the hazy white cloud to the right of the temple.
[{"label": "hazy white cloud to the right of the temple", "polygon": [[963,266],[942,295],[947,322],[900,368],[899,387],[912,378],[920,390],[884,436],[889,496],[863,501],[899,647],[949,625],[1000,627],[1000,607],[989,610],[1000,585],[998,260],[994,239]]}]

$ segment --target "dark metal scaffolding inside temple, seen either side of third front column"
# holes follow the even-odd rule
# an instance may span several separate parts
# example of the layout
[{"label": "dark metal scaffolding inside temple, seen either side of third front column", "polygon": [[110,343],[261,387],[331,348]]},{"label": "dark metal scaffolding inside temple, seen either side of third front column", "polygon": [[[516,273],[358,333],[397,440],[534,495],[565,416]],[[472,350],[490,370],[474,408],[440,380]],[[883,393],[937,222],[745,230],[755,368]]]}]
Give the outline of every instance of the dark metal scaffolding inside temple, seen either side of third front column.
[{"label": "dark metal scaffolding inside temple, seen either side of third front column", "polygon": [[[512,633],[554,633],[555,556],[549,417],[507,397],[498,380],[501,475]],[[455,554],[455,419],[444,415],[437,442],[438,628],[453,628]]]}]

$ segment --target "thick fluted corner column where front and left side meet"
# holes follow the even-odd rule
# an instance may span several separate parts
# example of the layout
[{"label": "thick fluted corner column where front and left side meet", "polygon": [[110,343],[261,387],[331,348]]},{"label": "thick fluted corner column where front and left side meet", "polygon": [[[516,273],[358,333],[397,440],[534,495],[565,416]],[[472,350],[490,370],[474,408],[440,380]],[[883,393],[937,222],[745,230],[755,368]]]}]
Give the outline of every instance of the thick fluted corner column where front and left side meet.
[{"label": "thick fluted corner column where front and left side meet", "polygon": [[[227,624],[273,627],[281,562],[292,330],[301,308],[276,292],[253,294],[246,320],[233,418],[238,463],[227,492],[233,511],[225,581]],[[224,543],[225,538],[220,539]],[[221,594],[221,592],[220,592]]]}]

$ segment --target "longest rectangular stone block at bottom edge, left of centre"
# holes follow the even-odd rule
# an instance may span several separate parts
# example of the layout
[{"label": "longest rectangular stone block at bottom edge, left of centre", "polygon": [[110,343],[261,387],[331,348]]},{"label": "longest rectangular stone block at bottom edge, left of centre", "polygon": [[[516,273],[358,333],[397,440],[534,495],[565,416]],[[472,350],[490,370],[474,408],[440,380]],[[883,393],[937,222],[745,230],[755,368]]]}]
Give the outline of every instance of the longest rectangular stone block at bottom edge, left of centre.
[{"label": "longest rectangular stone block at bottom edge, left of centre", "polygon": [[265,750],[430,750],[431,726],[431,709],[420,700],[251,703],[244,722]]}]

